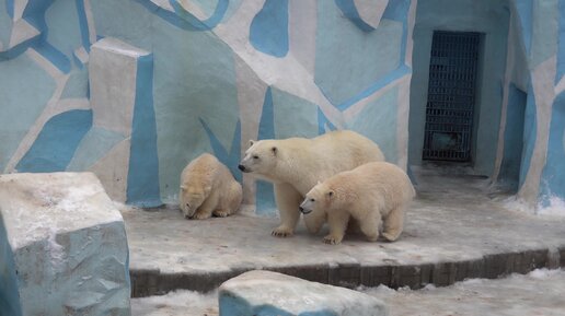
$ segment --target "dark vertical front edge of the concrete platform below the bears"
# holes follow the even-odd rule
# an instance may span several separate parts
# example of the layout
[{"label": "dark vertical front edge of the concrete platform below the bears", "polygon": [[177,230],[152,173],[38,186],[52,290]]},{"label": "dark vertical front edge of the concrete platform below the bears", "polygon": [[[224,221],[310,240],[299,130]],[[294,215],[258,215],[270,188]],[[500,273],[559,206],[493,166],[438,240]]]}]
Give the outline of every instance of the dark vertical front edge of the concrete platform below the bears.
[{"label": "dark vertical front edge of the concrete platform below the bears", "polygon": [[[565,256],[565,247],[558,250],[561,258]],[[565,260],[560,266],[550,266],[550,258],[555,256],[549,249],[524,250],[487,255],[478,260],[463,260],[441,264],[408,265],[408,266],[298,266],[274,267],[265,270],[280,272],[308,281],[355,289],[359,285],[378,286],[380,284],[392,289],[408,286],[422,289],[426,284],[447,286],[465,279],[497,279],[510,273],[526,274],[534,269],[556,269],[565,267]],[[247,270],[230,270],[205,274],[196,273],[160,273],[158,270],[130,270],[131,297],[162,295],[183,289],[197,292],[209,292],[222,282]]]}]

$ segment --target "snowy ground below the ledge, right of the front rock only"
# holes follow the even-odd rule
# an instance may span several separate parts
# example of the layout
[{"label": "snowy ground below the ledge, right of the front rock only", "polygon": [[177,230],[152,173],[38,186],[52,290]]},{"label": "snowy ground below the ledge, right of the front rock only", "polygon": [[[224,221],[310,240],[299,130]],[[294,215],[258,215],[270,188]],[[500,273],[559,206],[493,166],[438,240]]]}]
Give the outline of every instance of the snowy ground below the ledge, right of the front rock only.
[{"label": "snowy ground below the ledge, right of the front rock only", "polygon": [[506,279],[472,279],[419,291],[364,290],[389,304],[391,316],[563,316],[565,270],[540,269]]}]

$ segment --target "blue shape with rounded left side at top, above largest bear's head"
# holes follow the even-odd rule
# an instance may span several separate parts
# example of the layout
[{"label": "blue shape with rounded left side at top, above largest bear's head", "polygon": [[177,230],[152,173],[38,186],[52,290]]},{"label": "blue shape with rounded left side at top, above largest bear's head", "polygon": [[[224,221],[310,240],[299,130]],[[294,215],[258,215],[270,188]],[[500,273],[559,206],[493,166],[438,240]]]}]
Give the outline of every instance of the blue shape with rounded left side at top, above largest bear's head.
[{"label": "blue shape with rounded left side at top, above largest bear's head", "polygon": [[255,49],[275,57],[288,52],[288,0],[266,0],[253,17],[250,42]]}]

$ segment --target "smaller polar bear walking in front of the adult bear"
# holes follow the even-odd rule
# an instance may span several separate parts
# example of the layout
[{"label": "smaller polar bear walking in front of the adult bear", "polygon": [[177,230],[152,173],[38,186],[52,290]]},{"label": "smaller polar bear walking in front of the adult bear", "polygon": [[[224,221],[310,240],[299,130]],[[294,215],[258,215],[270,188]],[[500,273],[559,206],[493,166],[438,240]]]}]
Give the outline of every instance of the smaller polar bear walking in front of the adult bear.
[{"label": "smaller polar bear walking in front of the adult bear", "polygon": [[[387,162],[372,162],[353,171],[338,173],[314,186],[300,204],[303,214],[327,214],[330,234],[326,244],[339,244],[345,235],[349,218],[359,223],[359,229],[370,242],[382,236],[394,242],[404,226],[404,214],[415,196],[406,173]],[[314,223],[320,230],[323,222]]]}]

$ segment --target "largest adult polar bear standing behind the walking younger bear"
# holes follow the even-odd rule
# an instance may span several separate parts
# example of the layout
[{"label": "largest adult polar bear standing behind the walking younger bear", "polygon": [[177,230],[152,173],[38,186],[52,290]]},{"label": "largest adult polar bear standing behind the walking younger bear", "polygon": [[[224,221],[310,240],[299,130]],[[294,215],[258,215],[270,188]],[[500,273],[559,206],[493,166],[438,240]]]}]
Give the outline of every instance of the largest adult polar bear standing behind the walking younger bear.
[{"label": "largest adult polar bear standing behind the walking younger bear", "polygon": [[[275,201],[280,225],[273,235],[292,235],[300,218],[299,206],[319,182],[359,165],[384,161],[379,147],[350,130],[332,131],[312,139],[288,138],[250,141],[250,149],[239,168],[269,180],[275,187]],[[316,233],[324,212],[304,215],[311,233]]]}]

